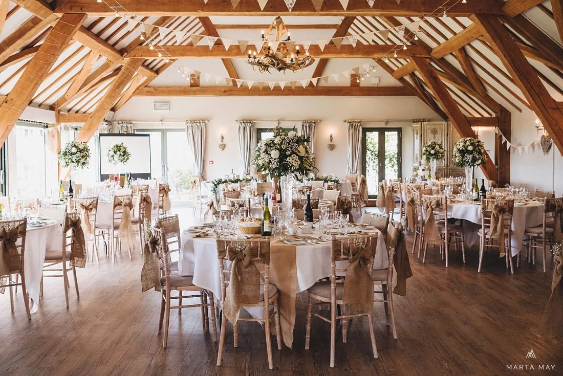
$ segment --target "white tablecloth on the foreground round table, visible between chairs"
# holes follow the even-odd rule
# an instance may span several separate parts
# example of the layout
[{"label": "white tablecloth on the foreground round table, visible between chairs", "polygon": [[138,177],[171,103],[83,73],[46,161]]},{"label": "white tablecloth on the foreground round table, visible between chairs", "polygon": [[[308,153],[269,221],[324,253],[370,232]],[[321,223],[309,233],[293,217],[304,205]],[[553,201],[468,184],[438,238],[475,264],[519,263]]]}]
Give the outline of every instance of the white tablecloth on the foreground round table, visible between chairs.
[{"label": "white tablecloth on the foreground round table, visible between chairs", "polygon": [[[373,268],[384,269],[389,265],[385,239],[381,232],[375,231],[378,238]],[[296,249],[297,292],[300,293],[319,279],[330,276],[330,243],[298,245]],[[187,231],[182,232],[178,271],[181,275],[193,275],[194,285],[210,290],[217,298],[221,297],[215,238],[191,238]]]}]

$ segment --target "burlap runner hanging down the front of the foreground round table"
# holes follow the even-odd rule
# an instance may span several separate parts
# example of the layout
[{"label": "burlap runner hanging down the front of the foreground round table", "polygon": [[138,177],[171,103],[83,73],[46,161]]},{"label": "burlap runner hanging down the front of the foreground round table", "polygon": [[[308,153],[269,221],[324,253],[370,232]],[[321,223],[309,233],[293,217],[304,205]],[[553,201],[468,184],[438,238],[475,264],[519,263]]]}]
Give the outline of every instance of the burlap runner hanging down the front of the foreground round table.
[{"label": "burlap runner hanging down the front of the foreground round table", "polygon": [[[270,250],[270,283],[278,287],[280,326],[285,346],[293,344],[295,301],[297,297],[297,247],[282,240],[274,240]],[[275,333],[274,323],[272,333]]]}]

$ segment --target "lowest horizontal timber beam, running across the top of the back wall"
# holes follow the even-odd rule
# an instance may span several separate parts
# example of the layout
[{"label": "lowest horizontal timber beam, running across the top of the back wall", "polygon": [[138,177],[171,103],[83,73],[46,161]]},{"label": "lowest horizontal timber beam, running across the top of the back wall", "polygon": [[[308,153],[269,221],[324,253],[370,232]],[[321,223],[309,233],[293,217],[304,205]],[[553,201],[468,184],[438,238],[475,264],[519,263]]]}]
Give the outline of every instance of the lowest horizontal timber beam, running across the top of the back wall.
[{"label": "lowest horizontal timber beam, running across the top of the back wall", "polygon": [[[256,85],[256,83],[255,83]],[[145,87],[135,94],[142,97],[216,97],[216,96],[413,96],[403,86],[314,86],[306,87],[296,86],[294,89],[286,86],[284,89],[280,87],[258,88],[248,87],[220,87],[220,86],[204,86],[204,87]]]}]

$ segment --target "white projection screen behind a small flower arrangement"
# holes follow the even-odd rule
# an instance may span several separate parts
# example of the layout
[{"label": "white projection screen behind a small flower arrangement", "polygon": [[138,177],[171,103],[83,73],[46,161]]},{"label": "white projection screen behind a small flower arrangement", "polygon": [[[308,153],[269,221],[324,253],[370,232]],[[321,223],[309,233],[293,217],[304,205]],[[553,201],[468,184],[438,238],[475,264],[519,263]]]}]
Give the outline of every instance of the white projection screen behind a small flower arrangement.
[{"label": "white projection screen behind a small flower arrangement", "polygon": [[[108,150],[115,144],[127,146],[131,158],[124,165],[108,162]],[[132,178],[150,179],[150,135],[122,135],[118,133],[100,134],[100,179],[106,180],[109,174],[131,173]]]}]

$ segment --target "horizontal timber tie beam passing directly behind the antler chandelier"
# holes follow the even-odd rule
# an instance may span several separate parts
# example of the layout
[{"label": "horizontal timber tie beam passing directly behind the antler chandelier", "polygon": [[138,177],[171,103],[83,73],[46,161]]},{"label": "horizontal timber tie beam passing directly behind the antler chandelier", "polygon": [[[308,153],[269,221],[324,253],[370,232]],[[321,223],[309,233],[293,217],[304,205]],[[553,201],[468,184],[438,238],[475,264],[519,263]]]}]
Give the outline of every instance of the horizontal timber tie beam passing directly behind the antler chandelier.
[{"label": "horizontal timber tie beam passing directly behind the antler chandelier", "polygon": [[[246,59],[248,53],[240,51],[238,45],[229,47],[225,51],[224,46],[161,46],[169,54],[172,59],[181,58],[200,58],[207,59],[209,57],[217,57],[220,59]],[[345,58],[365,58],[372,59],[374,57],[385,57],[389,55],[389,51],[396,48],[396,44],[356,44],[356,48],[351,44],[342,44],[340,48],[329,45],[320,49],[318,44],[311,44],[309,47],[309,55],[316,59],[345,59]],[[429,56],[428,52],[418,46],[410,46],[408,50],[399,48],[397,58],[405,59],[410,56]],[[125,57],[142,57],[143,59],[159,59],[158,51],[150,49],[150,46],[137,46],[127,53]],[[160,57],[165,59],[166,56]]]}]

